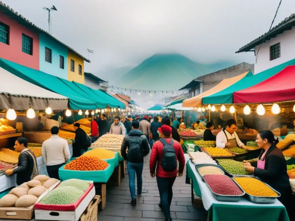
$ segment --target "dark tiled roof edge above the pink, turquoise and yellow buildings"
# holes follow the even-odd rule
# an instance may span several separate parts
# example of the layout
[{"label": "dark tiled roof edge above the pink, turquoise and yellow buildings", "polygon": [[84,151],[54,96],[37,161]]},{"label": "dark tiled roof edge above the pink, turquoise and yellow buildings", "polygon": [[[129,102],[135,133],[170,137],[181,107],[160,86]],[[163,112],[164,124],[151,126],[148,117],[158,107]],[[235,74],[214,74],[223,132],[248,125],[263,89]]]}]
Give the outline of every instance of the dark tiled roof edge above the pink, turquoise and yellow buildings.
[{"label": "dark tiled roof edge above the pink, turquoise and yellow buildings", "polygon": [[49,34],[48,32],[46,32],[45,30],[37,27],[35,24],[33,24],[32,22],[30,22],[28,19],[24,18],[21,14],[18,14],[16,11],[14,11],[12,8],[10,8],[8,5],[2,3],[2,1],[0,1],[0,9],[2,9],[3,11],[5,11],[6,14],[9,15],[9,17],[17,20],[20,24],[27,25],[31,29],[33,29],[34,31],[36,31],[38,33],[41,33],[41,34],[45,34],[46,36],[54,39],[55,41],[59,42],[60,44],[63,44],[65,47],[68,48],[68,50],[70,50],[72,53],[76,54],[78,57],[82,58],[84,61],[90,62],[90,60],[88,60],[87,58],[85,58],[82,55],[80,55],[73,48],[69,47],[68,45],[64,44],[60,40],[56,39],[55,37],[53,37],[51,34]]}]

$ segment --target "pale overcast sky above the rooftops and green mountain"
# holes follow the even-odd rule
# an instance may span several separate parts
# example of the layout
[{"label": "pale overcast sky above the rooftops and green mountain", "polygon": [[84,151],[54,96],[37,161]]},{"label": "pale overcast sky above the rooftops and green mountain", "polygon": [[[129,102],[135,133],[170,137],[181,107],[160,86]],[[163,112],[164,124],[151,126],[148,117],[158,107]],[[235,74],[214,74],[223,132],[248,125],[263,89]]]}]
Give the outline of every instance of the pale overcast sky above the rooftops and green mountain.
[{"label": "pale overcast sky above the rooftops and green mountain", "polygon": [[[253,52],[235,54],[267,32],[279,0],[2,0],[31,22],[92,61],[85,71],[135,66],[158,52],[178,52],[194,61],[254,63]],[[274,24],[295,13],[283,0]],[[102,77],[102,76],[101,76]]]}]

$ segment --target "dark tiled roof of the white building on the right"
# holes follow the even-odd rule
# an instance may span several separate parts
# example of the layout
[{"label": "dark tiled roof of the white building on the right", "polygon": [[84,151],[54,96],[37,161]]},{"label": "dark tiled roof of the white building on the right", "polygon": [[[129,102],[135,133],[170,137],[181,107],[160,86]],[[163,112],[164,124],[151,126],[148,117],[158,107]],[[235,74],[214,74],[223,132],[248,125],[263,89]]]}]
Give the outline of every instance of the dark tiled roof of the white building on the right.
[{"label": "dark tiled roof of the white building on the right", "polygon": [[253,49],[256,45],[261,44],[263,41],[276,37],[276,35],[282,34],[286,30],[290,30],[293,26],[295,26],[295,13],[291,14],[289,17],[286,17],[283,21],[274,26],[270,31],[264,33],[252,42],[241,47],[236,53],[247,52]]}]

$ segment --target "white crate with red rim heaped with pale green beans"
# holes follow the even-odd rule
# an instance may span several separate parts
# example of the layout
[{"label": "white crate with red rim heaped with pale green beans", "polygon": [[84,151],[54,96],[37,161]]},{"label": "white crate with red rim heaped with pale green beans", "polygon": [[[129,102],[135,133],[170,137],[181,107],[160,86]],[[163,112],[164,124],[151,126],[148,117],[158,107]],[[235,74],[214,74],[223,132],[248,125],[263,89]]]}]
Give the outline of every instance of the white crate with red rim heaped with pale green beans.
[{"label": "white crate with red rim heaped with pale green beans", "polygon": [[78,221],[94,196],[92,181],[73,179],[64,185],[61,182],[35,204],[35,219]]}]

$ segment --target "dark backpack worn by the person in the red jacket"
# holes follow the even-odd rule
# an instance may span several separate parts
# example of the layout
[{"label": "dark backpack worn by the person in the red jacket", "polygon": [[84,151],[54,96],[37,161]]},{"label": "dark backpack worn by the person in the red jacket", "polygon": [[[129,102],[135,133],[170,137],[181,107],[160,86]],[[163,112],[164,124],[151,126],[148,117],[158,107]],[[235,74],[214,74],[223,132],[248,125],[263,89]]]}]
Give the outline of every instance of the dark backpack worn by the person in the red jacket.
[{"label": "dark backpack worn by the person in the red jacket", "polygon": [[174,171],[177,168],[177,162],[175,149],[173,147],[173,139],[171,138],[170,144],[167,144],[163,138],[160,138],[160,141],[164,145],[161,166],[163,170],[167,172]]}]

